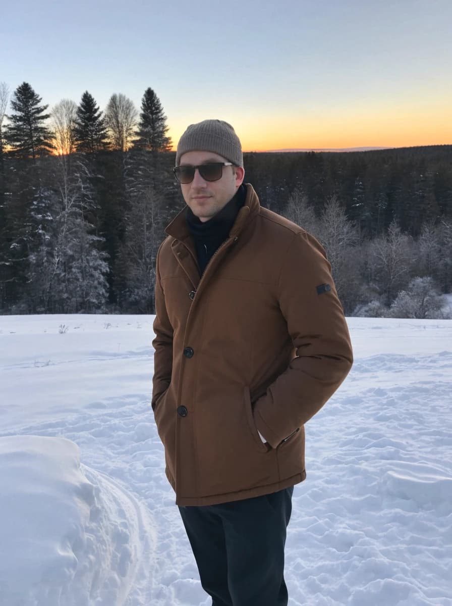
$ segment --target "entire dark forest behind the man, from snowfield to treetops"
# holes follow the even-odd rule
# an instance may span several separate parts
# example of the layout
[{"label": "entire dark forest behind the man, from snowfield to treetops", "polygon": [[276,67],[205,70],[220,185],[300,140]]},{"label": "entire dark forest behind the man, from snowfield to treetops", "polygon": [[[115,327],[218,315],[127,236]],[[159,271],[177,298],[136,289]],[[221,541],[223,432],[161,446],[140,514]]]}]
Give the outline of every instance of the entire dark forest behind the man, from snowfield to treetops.
[{"label": "entire dark forest behind the man, from snowfield to treetops", "polygon": [[[47,110],[27,82],[0,84],[0,313],[153,313],[183,207],[159,98]],[[452,145],[244,154],[261,204],[326,248],[347,314],[419,318],[445,316],[452,290],[451,161]]]}]

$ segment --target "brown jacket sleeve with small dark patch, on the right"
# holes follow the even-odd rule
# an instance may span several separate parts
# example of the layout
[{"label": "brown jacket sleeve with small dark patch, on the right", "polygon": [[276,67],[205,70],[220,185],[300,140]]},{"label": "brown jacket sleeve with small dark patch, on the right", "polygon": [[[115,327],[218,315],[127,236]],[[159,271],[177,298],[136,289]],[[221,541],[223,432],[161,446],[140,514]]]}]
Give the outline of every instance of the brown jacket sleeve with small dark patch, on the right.
[{"label": "brown jacket sleeve with small dark patch, on the right", "polygon": [[277,299],[296,357],[254,405],[258,431],[273,448],[323,407],[353,363],[331,266],[321,245],[304,231],[287,250]]}]

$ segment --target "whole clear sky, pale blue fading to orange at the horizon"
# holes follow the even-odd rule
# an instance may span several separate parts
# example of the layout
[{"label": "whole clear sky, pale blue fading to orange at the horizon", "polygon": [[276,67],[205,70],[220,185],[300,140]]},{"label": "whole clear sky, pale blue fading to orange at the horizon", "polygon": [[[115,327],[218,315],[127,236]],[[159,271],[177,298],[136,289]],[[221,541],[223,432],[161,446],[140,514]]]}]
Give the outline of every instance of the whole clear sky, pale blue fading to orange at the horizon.
[{"label": "whole clear sky, pale blue fading to orange at the horizon", "polygon": [[0,82],[50,108],[159,96],[177,144],[206,118],[244,151],[452,144],[450,0],[21,0]]}]

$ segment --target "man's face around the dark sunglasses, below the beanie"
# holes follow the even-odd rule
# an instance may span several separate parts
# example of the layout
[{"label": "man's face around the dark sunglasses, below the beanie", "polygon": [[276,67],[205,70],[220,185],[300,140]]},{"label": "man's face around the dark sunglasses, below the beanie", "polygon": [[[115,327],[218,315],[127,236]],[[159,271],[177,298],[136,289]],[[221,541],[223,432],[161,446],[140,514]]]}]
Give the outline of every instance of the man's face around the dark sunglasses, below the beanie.
[{"label": "man's face around the dark sunglasses, below the beanie", "polygon": [[[209,162],[226,162],[223,156],[211,151],[187,151],[180,157],[179,164],[196,166]],[[209,221],[234,197],[243,182],[241,167],[223,166],[223,176],[218,181],[205,181],[199,171],[195,171],[191,183],[181,184],[183,199],[192,213],[200,221]]]}]

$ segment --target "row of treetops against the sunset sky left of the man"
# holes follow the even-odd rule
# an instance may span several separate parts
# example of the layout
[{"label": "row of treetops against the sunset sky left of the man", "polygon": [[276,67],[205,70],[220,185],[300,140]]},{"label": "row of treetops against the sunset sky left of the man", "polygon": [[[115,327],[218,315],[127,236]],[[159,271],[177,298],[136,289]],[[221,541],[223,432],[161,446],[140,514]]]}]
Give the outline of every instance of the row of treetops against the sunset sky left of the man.
[{"label": "row of treetops against the sunset sky left of the man", "polygon": [[171,138],[160,99],[152,88],[142,98],[141,112],[122,93],[111,95],[101,112],[94,97],[85,91],[79,105],[62,99],[46,113],[48,105],[22,82],[11,99],[13,112],[3,127],[9,91],[0,84],[0,141],[2,152],[12,158],[36,159],[50,153],[95,153],[127,151],[133,147],[150,151],[171,150]]}]

